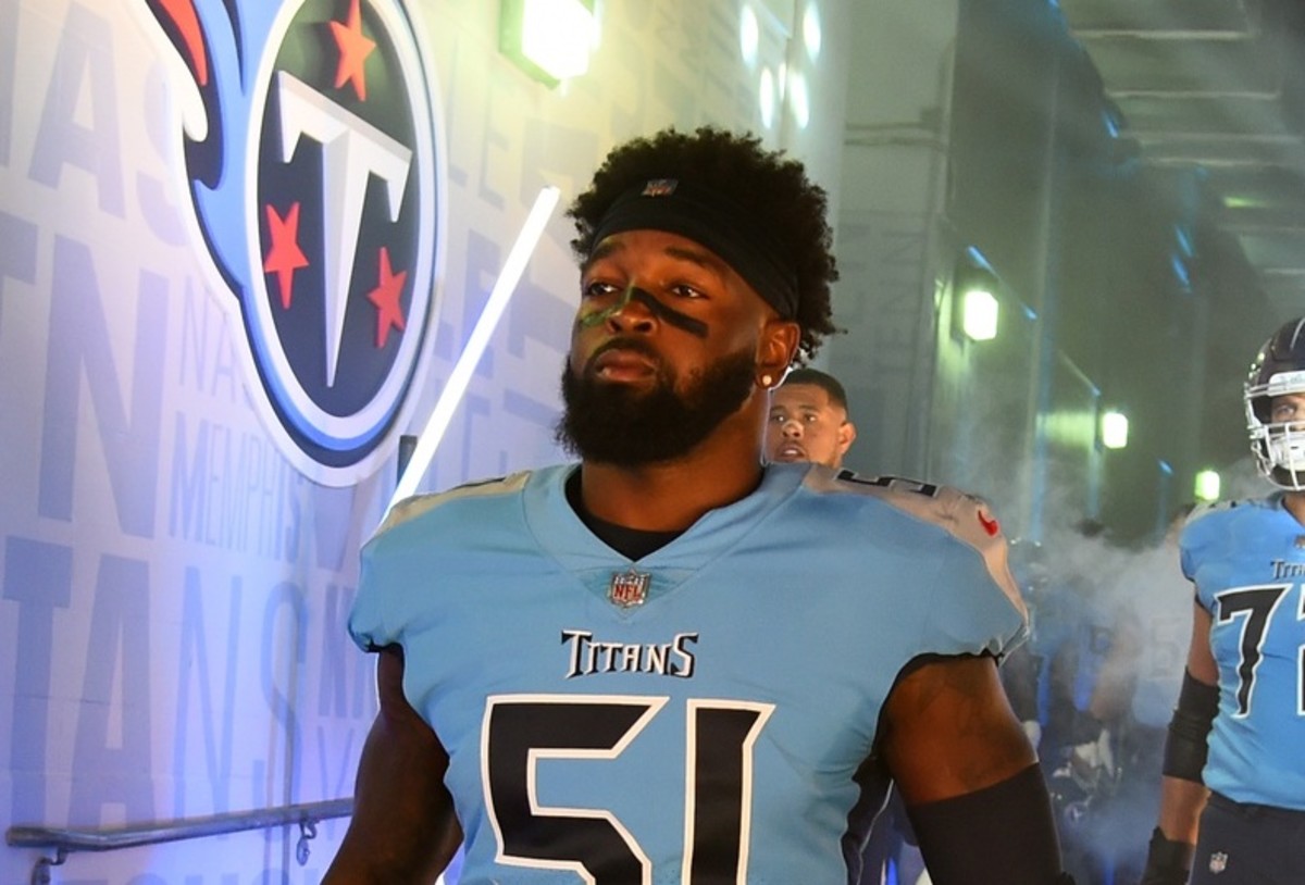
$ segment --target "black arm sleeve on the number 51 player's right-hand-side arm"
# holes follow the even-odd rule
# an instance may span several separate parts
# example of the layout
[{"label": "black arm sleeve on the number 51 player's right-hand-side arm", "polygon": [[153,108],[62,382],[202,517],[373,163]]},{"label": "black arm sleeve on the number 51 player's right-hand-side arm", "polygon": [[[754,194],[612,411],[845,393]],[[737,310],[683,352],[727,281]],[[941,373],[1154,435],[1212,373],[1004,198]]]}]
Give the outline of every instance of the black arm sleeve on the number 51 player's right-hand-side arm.
[{"label": "black arm sleeve on the number 51 player's right-hand-side arm", "polygon": [[934,885],[1069,884],[1041,769],[907,808]]}]

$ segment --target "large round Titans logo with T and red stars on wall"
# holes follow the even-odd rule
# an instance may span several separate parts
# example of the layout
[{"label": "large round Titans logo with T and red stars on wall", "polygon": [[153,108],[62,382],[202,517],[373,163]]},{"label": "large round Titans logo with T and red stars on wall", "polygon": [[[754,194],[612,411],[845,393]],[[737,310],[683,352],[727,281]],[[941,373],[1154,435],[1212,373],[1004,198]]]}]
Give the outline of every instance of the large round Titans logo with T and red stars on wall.
[{"label": "large round Titans logo with T and red stars on wall", "polygon": [[192,232],[253,399],[301,473],[352,484],[397,445],[444,266],[441,123],[410,10],[141,1],[174,54]]}]

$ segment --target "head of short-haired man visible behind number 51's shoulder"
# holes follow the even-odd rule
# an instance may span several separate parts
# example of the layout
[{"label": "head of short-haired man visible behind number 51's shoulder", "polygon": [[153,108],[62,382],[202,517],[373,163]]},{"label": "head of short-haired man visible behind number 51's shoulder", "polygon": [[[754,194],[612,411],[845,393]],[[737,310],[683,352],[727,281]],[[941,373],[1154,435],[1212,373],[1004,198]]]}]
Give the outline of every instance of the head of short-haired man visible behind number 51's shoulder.
[{"label": "head of short-haired man visible behind number 51's shoulder", "polygon": [[842,467],[856,440],[847,416],[847,393],[838,379],[814,368],[796,368],[770,394],[766,459],[771,463],[810,461]]}]

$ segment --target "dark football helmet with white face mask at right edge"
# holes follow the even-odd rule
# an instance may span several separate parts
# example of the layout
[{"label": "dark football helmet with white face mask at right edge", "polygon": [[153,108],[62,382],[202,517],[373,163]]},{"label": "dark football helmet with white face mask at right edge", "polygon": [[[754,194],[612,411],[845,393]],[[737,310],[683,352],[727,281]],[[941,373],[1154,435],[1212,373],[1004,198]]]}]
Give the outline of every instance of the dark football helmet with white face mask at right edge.
[{"label": "dark football helmet with white face mask at right edge", "polygon": [[1291,320],[1265,342],[1246,379],[1246,429],[1250,450],[1268,482],[1305,489],[1305,415],[1274,422],[1274,397],[1305,394],[1305,317]]}]

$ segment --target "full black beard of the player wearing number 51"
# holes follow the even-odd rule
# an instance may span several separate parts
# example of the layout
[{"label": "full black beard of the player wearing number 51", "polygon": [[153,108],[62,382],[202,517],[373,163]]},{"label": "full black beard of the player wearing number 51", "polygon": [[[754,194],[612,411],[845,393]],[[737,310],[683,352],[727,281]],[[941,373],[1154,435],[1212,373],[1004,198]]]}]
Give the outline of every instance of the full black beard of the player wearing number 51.
[{"label": "full black beard of the player wearing number 51", "polygon": [[[621,345],[655,356],[638,342]],[[585,461],[617,467],[672,461],[692,452],[743,406],[754,369],[749,351],[729,354],[690,375],[685,390],[677,392],[675,379],[659,363],[652,389],[634,390],[602,381],[587,369],[577,377],[568,362],[557,441]],[[760,433],[758,428],[758,439]]]}]

